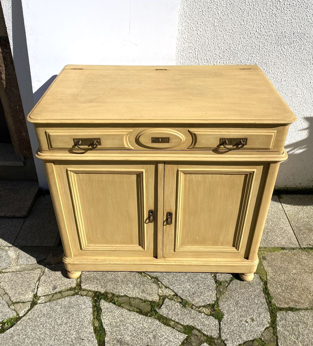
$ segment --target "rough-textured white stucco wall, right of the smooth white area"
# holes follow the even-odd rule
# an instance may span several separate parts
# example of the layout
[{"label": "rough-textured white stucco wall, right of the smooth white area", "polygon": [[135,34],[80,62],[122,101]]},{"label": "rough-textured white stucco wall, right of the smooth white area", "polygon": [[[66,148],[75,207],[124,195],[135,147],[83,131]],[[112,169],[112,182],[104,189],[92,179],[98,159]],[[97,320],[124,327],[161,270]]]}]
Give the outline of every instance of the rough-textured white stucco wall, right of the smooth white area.
[{"label": "rough-textured white stucco wall, right of the smooth white area", "polygon": [[298,117],[278,188],[313,185],[312,9],[311,0],[181,0],[179,9],[178,65],[257,64]]}]

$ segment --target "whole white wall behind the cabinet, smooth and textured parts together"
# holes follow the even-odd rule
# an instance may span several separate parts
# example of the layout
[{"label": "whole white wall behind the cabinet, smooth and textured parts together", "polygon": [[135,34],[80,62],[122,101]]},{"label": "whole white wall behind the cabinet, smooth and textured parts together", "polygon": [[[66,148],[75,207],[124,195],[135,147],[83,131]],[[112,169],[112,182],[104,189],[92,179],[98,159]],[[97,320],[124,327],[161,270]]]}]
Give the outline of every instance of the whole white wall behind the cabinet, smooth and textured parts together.
[{"label": "whole white wall behind the cabinet, smooth and textured parts together", "polygon": [[66,64],[258,64],[298,117],[276,186],[313,185],[312,0],[0,1],[26,113]]}]

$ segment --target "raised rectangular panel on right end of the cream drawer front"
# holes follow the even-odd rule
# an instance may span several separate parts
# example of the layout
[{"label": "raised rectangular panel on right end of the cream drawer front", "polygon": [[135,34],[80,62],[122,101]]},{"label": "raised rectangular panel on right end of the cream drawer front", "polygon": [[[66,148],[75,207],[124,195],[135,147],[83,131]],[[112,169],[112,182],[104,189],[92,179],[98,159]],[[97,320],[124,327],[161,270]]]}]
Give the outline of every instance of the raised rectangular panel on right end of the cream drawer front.
[{"label": "raised rectangular panel on right end of the cream drawer front", "polygon": [[[199,128],[191,129],[192,144],[189,149],[193,150],[226,150],[223,145],[220,144],[220,138],[247,138],[247,144],[242,150],[273,150],[276,130],[252,130],[252,129],[209,129]],[[281,144],[283,146],[283,143]],[[232,145],[227,145],[232,148]],[[235,148],[235,147],[234,147]]]}]

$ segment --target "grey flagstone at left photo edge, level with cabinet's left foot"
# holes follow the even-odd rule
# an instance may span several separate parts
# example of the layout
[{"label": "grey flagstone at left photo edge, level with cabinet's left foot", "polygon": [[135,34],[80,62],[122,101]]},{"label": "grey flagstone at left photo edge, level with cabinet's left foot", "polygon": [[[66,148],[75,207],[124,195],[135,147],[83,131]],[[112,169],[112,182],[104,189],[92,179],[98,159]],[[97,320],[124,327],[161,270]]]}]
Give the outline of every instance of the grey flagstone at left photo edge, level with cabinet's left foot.
[{"label": "grey flagstone at left photo edge, level with cabinet's left foot", "polygon": [[0,287],[8,294],[12,302],[33,300],[40,269],[24,270],[0,274]]}]

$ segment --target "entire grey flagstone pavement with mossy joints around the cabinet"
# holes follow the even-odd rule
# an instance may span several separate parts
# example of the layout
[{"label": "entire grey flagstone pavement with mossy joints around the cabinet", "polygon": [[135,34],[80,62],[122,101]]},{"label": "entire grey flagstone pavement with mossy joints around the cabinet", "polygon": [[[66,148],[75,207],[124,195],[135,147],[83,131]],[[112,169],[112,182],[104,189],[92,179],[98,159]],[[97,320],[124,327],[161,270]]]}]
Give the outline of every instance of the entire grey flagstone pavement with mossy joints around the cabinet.
[{"label": "entire grey flagstone pavement with mossy joints around the cabinet", "polygon": [[313,345],[313,195],[274,195],[259,266],[68,279],[49,195],[0,218],[0,346]]}]

